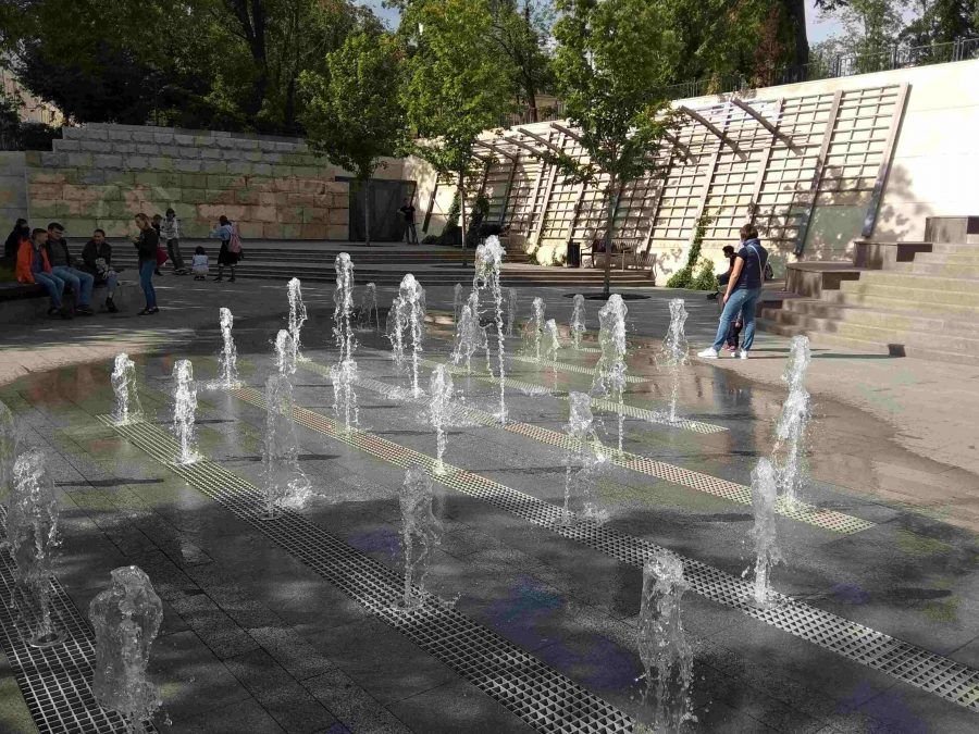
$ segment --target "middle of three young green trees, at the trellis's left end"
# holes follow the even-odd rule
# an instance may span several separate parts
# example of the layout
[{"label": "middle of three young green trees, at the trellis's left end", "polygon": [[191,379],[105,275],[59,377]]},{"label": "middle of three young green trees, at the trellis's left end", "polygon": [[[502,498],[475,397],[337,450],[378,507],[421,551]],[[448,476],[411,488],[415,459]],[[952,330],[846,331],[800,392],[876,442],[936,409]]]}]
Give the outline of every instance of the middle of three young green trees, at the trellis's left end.
[{"label": "middle of three young green trees, at the trellis's left end", "polygon": [[[466,201],[478,136],[513,108],[515,70],[487,39],[487,0],[414,0],[399,33],[409,49],[401,89],[412,150],[439,174],[456,178]],[[466,207],[462,236],[466,236]]]}]

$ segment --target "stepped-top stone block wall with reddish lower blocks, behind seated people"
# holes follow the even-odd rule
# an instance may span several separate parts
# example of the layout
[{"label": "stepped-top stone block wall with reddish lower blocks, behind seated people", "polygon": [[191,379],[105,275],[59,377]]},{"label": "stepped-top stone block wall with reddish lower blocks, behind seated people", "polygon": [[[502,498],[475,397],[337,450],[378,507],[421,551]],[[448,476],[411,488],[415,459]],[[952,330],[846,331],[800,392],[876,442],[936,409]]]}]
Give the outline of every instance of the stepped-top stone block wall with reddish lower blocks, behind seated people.
[{"label": "stepped-top stone block wall with reddish lower blocks, behind seated people", "polygon": [[[345,172],[298,139],[89,124],[26,155],[30,222],[58,220],[76,237],[129,235],[136,213],[172,207],[188,237],[224,214],[250,238],[348,238]],[[393,163],[385,177],[400,176]]]}]

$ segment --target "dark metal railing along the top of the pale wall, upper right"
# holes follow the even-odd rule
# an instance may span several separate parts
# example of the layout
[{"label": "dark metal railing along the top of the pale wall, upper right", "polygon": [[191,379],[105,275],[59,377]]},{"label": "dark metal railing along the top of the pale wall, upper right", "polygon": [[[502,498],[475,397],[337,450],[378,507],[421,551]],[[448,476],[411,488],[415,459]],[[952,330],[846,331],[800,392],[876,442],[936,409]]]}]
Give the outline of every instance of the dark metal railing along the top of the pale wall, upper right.
[{"label": "dark metal railing along the top of the pale wall, upper right", "polygon": [[[947,43],[928,46],[893,46],[885,49],[865,49],[853,53],[813,54],[813,61],[804,66],[786,66],[768,72],[746,74],[722,74],[703,79],[692,79],[674,84],[665,89],[669,99],[686,99],[723,95],[758,87],[774,87],[782,84],[816,82],[857,74],[890,72],[897,69],[929,66],[953,61],[979,59],[979,38],[959,38]],[[535,122],[530,111],[506,115],[500,127],[515,127]],[[565,117],[565,105],[558,101],[549,108],[537,110],[536,122],[557,121]]]}]

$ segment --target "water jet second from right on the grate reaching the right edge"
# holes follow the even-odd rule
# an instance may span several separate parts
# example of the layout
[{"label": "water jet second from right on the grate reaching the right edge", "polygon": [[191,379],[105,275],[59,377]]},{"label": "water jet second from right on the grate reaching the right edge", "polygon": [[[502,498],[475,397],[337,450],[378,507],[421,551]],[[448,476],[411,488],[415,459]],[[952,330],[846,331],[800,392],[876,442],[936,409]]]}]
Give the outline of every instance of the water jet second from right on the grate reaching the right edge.
[{"label": "water jet second from right on the grate reaching the right edge", "polygon": [[580,499],[580,515],[604,523],[608,511],[599,508],[595,497],[595,474],[605,462],[602,444],[593,427],[592,398],[586,393],[568,395],[568,423],[565,431],[568,449],[565,452],[565,508],[562,524],[574,523],[572,500]]}]

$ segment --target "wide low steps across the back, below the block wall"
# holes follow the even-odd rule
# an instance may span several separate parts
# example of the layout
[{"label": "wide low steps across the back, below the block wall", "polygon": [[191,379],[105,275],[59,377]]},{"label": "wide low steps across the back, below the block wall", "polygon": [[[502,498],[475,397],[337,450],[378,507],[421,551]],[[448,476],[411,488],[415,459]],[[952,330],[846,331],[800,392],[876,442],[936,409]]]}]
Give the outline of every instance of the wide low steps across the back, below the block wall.
[{"label": "wide low steps across the back, below the block wall", "polygon": [[[181,242],[181,252],[189,268],[194,248],[203,245],[211,263],[211,277],[218,273],[219,244],[211,240],[187,239]],[[113,240],[113,265],[125,269],[135,279],[136,250],[127,240]],[[82,242],[72,242],[72,253],[80,254]],[[245,241],[245,259],[237,266],[238,277],[285,281],[292,277],[311,283],[333,283],[336,279],[334,260],[337,253],[349,252],[354,261],[357,283],[375,283],[377,286],[396,286],[405,273],[413,273],[424,286],[451,286],[471,283],[473,252],[443,246],[363,245],[346,242],[272,242]],[[522,254],[522,251],[521,251]],[[517,257],[517,256],[515,256]],[[164,265],[170,272],[170,264]],[[227,275],[227,273],[225,273]],[[511,286],[594,287],[603,283],[600,270],[582,268],[549,268],[526,263],[525,258],[504,261],[500,281]],[[649,279],[642,271],[612,271],[612,285],[618,287],[648,287]]]}]

